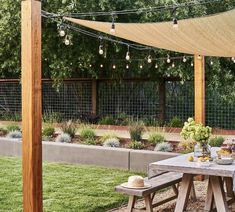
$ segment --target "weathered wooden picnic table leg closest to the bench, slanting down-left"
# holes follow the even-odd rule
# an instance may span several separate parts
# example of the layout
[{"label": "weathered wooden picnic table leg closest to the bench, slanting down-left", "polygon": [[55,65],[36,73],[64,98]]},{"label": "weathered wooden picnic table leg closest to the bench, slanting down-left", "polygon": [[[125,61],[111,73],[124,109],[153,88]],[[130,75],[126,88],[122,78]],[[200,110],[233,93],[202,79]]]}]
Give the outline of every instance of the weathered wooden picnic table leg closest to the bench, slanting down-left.
[{"label": "weathered wooden picnic table leg closest to the bench, slanting down-left", "polygon": [[175,212],[183,212],[189,198],[191,186],[193,183],[192,174],[183,174],[182,183],[179,190],[179,196],[176,202]]}]

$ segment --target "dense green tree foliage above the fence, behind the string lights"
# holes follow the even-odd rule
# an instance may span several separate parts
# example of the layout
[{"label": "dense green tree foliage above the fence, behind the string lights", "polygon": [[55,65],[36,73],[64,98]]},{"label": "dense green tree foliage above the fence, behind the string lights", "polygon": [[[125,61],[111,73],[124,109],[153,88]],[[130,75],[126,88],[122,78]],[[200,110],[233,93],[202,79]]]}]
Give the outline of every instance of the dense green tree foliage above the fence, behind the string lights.
[{"label": "dense green tree foliage above the fence, behind the string lights", "polygon": [[[188,0],[60,0],[42,1],[43,10],[54,13],[79,13],[92,11],[118,11],[125,9],[139,9],[166,4],[177,4],[189,2]],[[195,1],[197,2],[197,1]],[[20,77],[20,0],[2,0],[0,7],[0,77]],[[177,18],[186,19],[210,15],[227,11],[235,7],[233,0],[223,0],[210,4],[178,8]],[[90,20],[112,21],[110,16],[89,17]],[[159,22],[172,20],[172,12],[163,10],[159,12],[145,12],[115,16],[116,22]],[[73,45],[65,46],[63,38],[58,34],[58,24],[52,20],[43,18],[42,34],[42,67],[43,77],[52,78],[55,82],[69,77],[110,77],[122,79],[123,77],[151,77],[159,79],[162,77],[180,77],[182,80],[193,79],[193,68],[191,61],[186,63],[176,61],[172,67],[166,61],[160,61],[158,69],[154,64],[148,64],[145,60],[143,69],[139,68],[143,61],[131,62],[130,70],[126,70],[124,59],[127,51],[125,45],[105,42],[107,58],[98,54],[100,41],[81,33],[69,30]],[[95,32],[98,34],[98,32]],[[153,49],[151,51],[131,50],[133,58],[146,58],[151,54],[154,58],[178,56],[175,52]],[[213,66],[210,64],[213,61]],[[207,58],[206,75],[212,86],[221,87],[234,86],[235,68],[231,59]],[[112,70],[113,63],[117,68]],[[100,68],[103,64],[103,68]],[[92,65],[92,67],[90,67]],[[231,87],[229,87],[231,89]],[[229,90],[230,90],[229,89]]]}]

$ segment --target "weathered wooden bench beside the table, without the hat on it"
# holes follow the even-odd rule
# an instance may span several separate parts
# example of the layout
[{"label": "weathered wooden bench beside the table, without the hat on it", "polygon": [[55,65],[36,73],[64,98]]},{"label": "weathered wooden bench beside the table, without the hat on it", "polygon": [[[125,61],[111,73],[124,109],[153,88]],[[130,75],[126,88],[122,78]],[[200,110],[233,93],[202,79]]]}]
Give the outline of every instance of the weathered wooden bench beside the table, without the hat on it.
[{"label": "weathered wooden bench beside the table, without the hat on it", "polygon": [[[147,177],[144,179],[146,183],[151,184],[150,188],[147,189],[128,189],[124,188],[121,185],[116,186],[115,190],[117,192],[121,192],[124,194],[129,195],[129,202],[127,206],[128,212],[134,212],[145,209],[148,212],[152,212],[154,207],[157,207],[161,204],[164,204],[166,202],[169,202],[171,200],[174,200],[178,196],[178,184],[182,180],[182,174],[181,173],[175,173],[175,172],[165,172],[160,175],[157,175],[151,179],[148,179]],[[153,199],[157,191],[172,187],[174,191],[174,195],[171,197],[167,197],[166,199],[163,199],[155,204],[153,204]],[[135,209],[135,202],[137,197],[143,197],[145,201],[145,207],[141,209]]]}]

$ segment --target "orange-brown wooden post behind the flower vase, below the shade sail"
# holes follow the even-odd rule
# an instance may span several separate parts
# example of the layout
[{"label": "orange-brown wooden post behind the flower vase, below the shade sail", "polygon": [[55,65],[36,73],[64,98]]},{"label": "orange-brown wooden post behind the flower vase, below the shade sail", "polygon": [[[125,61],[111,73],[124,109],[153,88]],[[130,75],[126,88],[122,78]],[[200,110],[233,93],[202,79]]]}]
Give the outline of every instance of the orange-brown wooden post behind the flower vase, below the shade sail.
[{"label": "orange-brown wooden post behind the flower vase, below the shade sail", "polygon": [[194,116],[197,123],[205,124],[205,59],[194,55]]}]

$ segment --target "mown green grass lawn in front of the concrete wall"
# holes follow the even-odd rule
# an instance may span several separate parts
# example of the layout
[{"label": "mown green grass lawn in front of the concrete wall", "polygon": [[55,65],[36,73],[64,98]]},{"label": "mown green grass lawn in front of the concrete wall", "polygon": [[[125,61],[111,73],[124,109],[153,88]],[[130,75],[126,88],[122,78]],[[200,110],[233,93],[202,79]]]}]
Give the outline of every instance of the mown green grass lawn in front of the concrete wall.
[{"label": "mown green grass lawn in front of the concrete wall", "polygon": [[[44,211],[107,211],[126,203],[114,186],[134,173],[85,165],[43,164]],[[0,211],[22,211],[21,160],[0,157]]]}]

